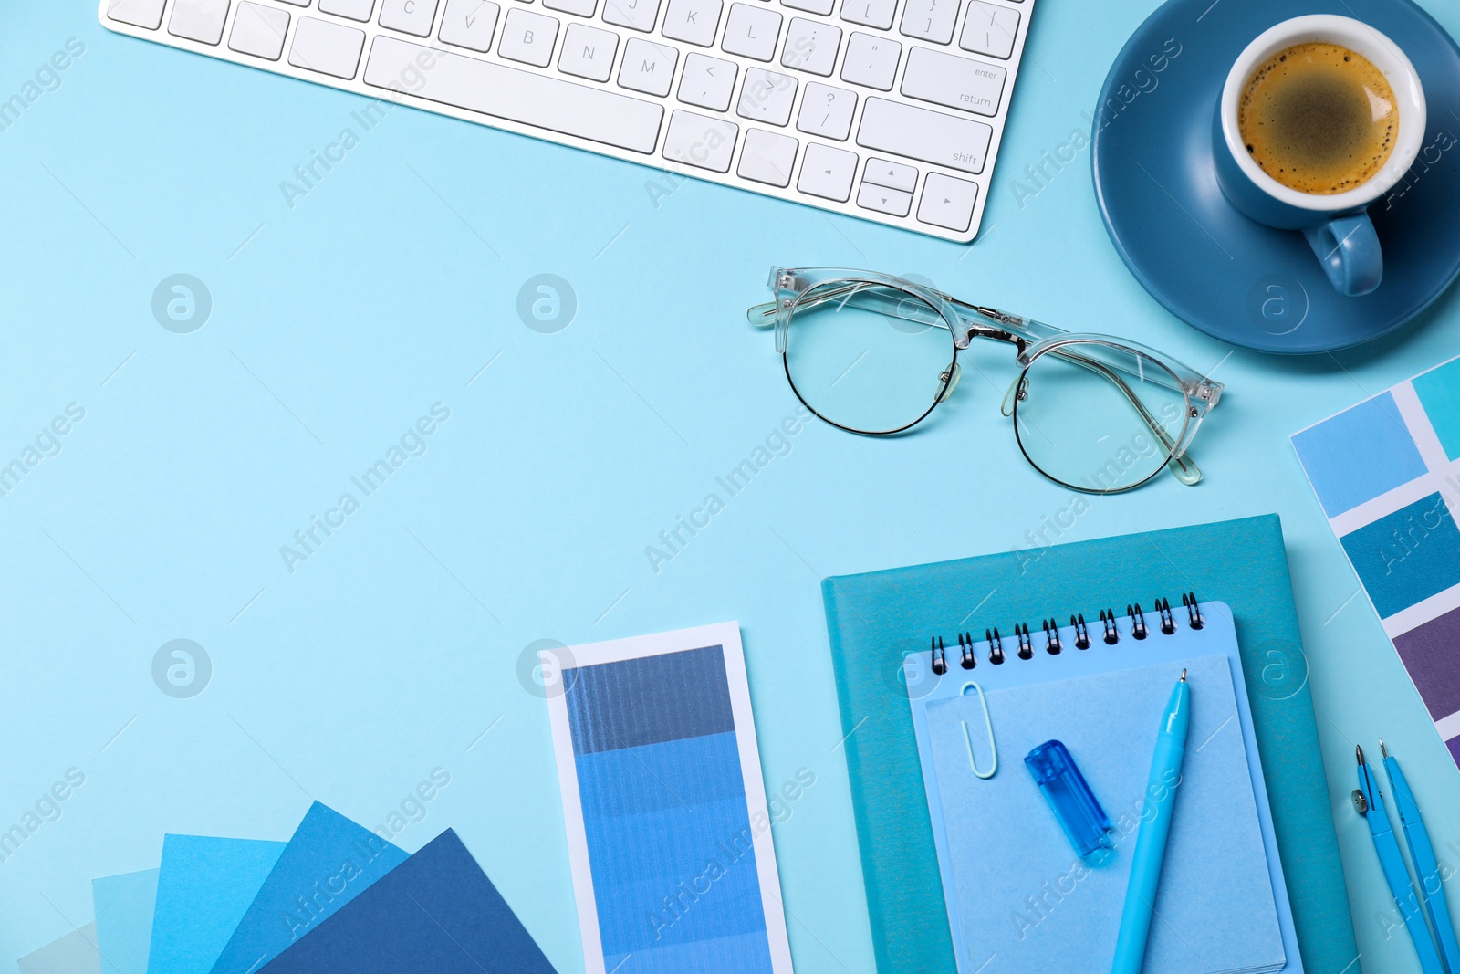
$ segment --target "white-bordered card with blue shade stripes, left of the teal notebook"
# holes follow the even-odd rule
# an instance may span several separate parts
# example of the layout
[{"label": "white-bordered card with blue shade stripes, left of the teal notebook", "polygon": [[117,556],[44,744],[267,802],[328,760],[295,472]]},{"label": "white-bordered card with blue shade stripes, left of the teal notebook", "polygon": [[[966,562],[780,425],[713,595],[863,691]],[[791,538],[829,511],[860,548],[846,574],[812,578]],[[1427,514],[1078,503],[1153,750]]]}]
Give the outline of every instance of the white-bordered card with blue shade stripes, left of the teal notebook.
[{"label": "white-bordered card with blue shade stripes, left of the teal notebook", "polygon": [[790,974],[736,624],[545,654],[588,974]]}]

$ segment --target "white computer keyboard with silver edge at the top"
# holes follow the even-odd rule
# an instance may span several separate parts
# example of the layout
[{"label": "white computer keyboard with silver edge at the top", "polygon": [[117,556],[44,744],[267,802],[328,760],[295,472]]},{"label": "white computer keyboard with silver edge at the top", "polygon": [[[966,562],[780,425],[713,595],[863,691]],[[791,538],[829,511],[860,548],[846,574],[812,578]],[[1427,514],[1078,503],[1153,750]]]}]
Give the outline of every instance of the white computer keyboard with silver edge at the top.
[{"label": "white computer keyboard with silver edge at the top", "polygon": [[104,26],[971,241],[1034,0],[101,0]]}]

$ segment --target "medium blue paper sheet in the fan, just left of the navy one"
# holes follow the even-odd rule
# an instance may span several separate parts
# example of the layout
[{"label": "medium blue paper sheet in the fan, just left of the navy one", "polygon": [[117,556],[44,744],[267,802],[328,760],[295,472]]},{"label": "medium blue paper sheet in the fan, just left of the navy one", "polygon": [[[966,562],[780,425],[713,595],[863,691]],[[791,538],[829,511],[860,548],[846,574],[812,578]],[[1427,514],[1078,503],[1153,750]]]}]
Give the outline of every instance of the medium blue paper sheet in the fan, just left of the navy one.
[{"label": "medium blue paper sheet in the fan, just left of the navy one", "polygon": [[406,862],[399,847],[315,802],[253,897],[213,974],[250,974]]}]

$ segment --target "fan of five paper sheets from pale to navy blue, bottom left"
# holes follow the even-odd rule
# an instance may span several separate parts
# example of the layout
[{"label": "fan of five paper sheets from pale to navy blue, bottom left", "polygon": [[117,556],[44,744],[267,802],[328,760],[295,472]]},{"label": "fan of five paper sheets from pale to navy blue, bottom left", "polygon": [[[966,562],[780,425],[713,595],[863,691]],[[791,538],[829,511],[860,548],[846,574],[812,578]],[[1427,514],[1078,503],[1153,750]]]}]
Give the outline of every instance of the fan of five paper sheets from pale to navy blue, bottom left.
[{"label": "fan of five paper sheets from pale to navy blue, bottom left", "polygon": [[20,974],[555,974],[451,829],[415,856],[315,802],[288,843],[166,835]]}]

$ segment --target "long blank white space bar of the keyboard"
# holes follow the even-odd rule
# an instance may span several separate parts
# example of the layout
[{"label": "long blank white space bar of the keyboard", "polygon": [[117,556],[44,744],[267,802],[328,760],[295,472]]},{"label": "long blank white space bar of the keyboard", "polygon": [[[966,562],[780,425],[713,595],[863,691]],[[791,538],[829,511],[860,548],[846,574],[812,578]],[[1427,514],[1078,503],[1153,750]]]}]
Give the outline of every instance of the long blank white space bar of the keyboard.
[{"label": "long blank white space bar of the keyboard", "polygon": [[664,118],[638,98],[388,37],[375,38],[365,83],[632,152],[654,152]]}]

